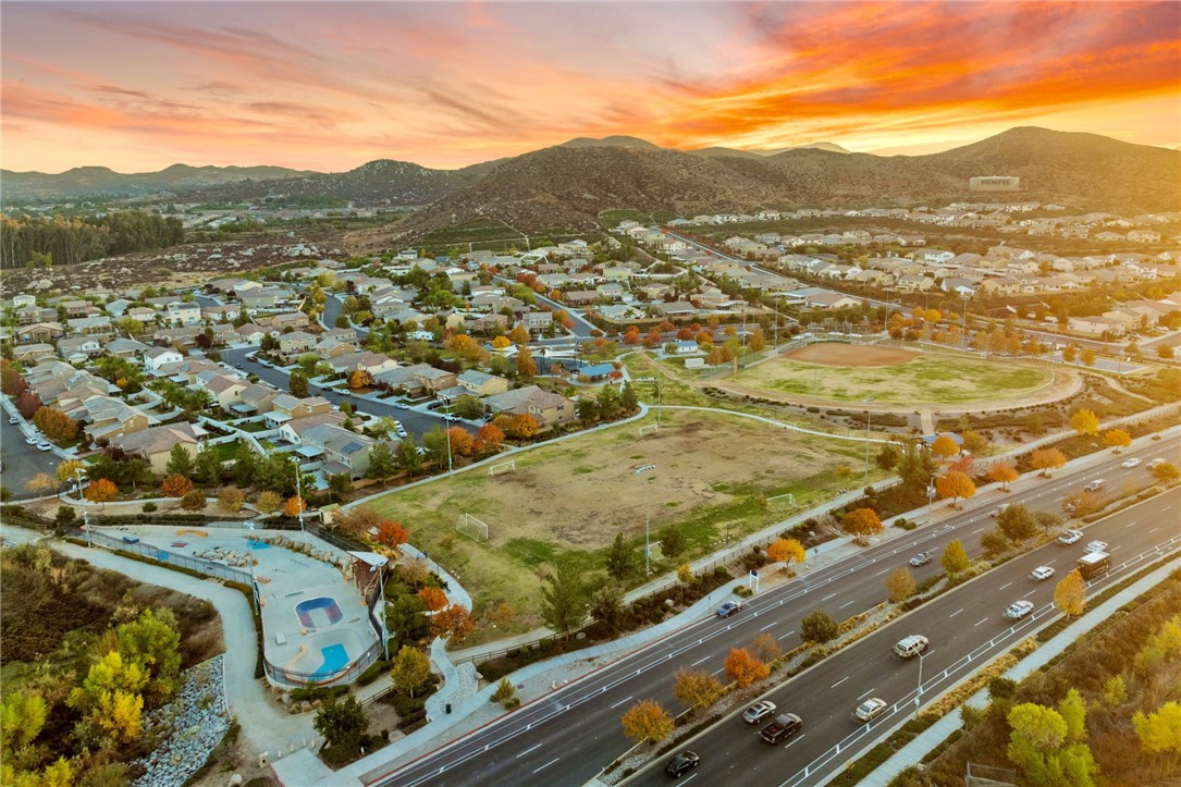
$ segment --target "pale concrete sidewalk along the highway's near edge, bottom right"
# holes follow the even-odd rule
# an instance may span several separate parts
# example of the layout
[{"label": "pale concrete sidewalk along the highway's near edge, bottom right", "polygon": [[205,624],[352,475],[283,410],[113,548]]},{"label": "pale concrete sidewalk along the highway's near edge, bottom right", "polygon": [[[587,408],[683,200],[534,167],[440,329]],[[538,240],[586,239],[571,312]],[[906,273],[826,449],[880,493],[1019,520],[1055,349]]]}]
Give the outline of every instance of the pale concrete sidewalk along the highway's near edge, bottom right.
[{"label": "pale concrete sidewalk along the highway's near edge, bottom right", "polygon": [[[1175,559],[1168,565],[1164,565],[1153,573],[1141,578],[1135,584],[1123,588],[1107,601],[1066,626],[1053,639],[1023,658],[1012,669],[1006,671],[1003,677],[1013,681],[1023,681],[1029,677],[1031,674],[1042,669],[1055,656],[1064,651],[1072,642],[1110,618],[1121,606],[1134,600],[1141,593],[1144,593],[1156,584],[1164,580],[1164,578],[1179,567],[1181,567],[1181,559]],[[1048,620],[1048,624],[1056,619],[1057,618]],[[973,708],[987,707],[988,690],[980,689],[968,697],[964,704],[972,705]],[[868,787],[886,787],[886,785],[888,785],[899,773],[901,773],[905,768],[920,762],[928,752],[947,740],[947,736],[963,726],[964,722],[960,718],[958,709],[948,713],[946,716],[924,730],[913,741],[895,752],[889,760],[877,766],[877,768],[866,776],[861,783],[867,785]]]}]

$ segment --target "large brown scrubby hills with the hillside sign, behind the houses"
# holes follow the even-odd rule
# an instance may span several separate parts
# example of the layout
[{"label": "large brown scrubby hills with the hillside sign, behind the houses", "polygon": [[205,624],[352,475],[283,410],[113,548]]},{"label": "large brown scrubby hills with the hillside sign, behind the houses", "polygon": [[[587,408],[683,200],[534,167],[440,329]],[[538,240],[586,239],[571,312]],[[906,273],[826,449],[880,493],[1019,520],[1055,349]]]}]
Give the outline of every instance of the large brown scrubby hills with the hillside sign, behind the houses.
[{"label": "large brown scrubby hills with the hillside sign, behind the houses", "polygon": [[[968,177],[974,175],[1017,175],[1023,190],[972,193]],[[399,229],[418,236],[482,216],[501,219],[521,232],[586,229],[609,208],[685,215],[761,206],[905,207],[1000,199],[1133,213],[1176,209],[1181,154],[1033,128],[927,156],[872,156],[816,147],[757,156],[727,149],[559,145],[502,162]]]}]

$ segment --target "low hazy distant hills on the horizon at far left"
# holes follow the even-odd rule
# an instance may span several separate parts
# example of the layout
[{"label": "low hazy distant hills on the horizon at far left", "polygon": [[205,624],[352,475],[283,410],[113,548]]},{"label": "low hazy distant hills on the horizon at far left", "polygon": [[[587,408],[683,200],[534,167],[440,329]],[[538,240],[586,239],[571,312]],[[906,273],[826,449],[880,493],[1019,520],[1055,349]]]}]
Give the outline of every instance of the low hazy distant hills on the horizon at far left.
[{"label": "low hazy distant hills on the horizon at far left", "polygon": [[136,196],[202,189],[246,180],[279,180],[312,175],[283,167],[189,167],[172,164],[158,173],[120,174],[106,167],[77,167],[58,175],[0,170],[6,202],[96,196]]}]

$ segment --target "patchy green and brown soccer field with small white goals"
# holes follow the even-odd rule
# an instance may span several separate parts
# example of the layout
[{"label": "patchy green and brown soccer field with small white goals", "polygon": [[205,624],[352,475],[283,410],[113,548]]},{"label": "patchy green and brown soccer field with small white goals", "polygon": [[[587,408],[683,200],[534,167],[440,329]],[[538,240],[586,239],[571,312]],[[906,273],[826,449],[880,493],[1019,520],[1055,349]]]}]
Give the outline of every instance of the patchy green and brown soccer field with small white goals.
[{"label": "patchy green and brown soccer field with small white goals", "polygon": [[[863,447],[802,435],[739,416],[665,410],[655,432],[639,423],[594,431],[516,454],[516,469],[470,471],[373,501],[405,525],[416,546],[455,570],[475,597],[477,617],[497,601],[517,612],[511,629],[540,625],[540,574],[567,558],[587,579],[602,578],[616,533],[628,540],[642,581],[645,518],[652,540],[676,525],[689,548],[653,564],[653,573],[705,554],[782,519],[766,497],[791,493],[801,506],[848,486],[837,467],[859,474]],[[655,469],[637,475],[645,464]],[[873,476],[872,476],[873,477]],[[488,525],[488,541],[457,531],[463,514]],[[478,528],[477,528],[478,531]],[[478,535],[478,532],[477,532]],[[504,631],[500,624],[498,633]],[[478,638],[478,635],[477,635]]]}]

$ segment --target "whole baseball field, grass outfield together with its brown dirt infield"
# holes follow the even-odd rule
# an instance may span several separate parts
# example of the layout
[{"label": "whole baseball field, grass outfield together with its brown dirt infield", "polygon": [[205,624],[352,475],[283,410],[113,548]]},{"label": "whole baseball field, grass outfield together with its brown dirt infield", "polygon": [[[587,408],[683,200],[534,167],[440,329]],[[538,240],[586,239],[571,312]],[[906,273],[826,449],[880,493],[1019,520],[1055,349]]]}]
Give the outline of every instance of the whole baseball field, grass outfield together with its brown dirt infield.
[{"label": "whole baseball field, grass outfield together with its brown dirt infield", "polygon": [[911,405],[1013,402],[1051,377],[1036,360],[821,342],[740,371],[737,382],[817,399]]}]

